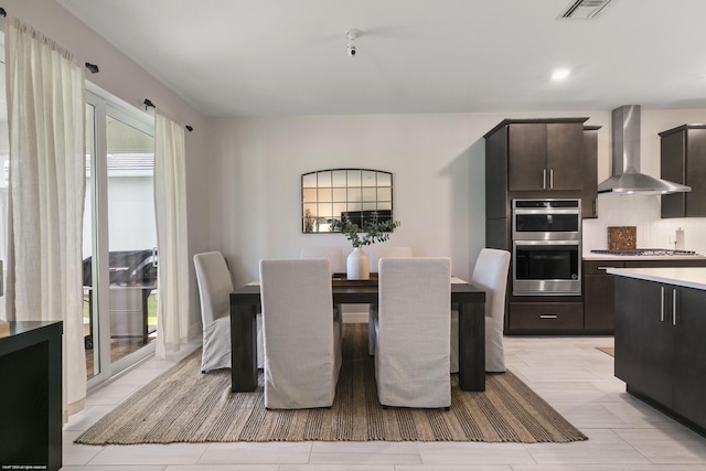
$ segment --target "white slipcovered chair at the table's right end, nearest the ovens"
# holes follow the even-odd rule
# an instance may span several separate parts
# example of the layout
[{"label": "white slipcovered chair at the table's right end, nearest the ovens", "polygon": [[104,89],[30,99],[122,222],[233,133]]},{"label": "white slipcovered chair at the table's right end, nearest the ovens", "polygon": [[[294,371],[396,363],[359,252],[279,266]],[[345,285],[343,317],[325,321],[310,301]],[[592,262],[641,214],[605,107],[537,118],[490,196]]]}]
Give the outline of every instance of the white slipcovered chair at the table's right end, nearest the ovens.
[{"label": "white slipcovered chair at the table's right end, nearest the ovens", "polygon": [[[505,321],[505,291],[510,253],[494,248],[481,249],[471,285],[485,291],[485,371],[505,371],[503,324]],[[451,311],[451,373],[459,371],[459,313]]]}]

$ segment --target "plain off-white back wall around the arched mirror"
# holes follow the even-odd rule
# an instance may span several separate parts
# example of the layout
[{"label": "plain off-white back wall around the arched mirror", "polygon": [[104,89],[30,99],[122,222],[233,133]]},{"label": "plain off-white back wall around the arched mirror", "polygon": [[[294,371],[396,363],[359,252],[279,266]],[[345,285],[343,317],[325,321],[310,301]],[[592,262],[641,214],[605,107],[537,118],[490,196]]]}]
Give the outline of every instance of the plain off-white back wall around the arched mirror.
[{"label": "plain off-white back wall around the arched mirror", "polygon": [[[340,234],[301,233],[301,174],[335,168],[393,173],[394,217],[385,244],[415,255],[450,256],[468,278],[484,246],[485,142],[505,117],[585,113],[311,116],[213,122],[211,234],[236,274],[257,278],[265,257],[298,257],[302,246],[341,246]],[[590,124],[606,125],[609,114]]]}]

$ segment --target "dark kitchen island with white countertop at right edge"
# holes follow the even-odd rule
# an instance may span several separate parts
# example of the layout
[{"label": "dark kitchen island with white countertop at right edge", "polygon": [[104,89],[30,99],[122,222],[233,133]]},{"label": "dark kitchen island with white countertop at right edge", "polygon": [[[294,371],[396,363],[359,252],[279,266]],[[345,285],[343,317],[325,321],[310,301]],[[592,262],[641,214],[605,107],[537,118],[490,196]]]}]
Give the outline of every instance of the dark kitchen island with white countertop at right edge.
[{"label": "dark kitchen island with white countertop at right edge", "polygon": [[706,268],[607,272],[616,276],[616,376],[706,435]]}]

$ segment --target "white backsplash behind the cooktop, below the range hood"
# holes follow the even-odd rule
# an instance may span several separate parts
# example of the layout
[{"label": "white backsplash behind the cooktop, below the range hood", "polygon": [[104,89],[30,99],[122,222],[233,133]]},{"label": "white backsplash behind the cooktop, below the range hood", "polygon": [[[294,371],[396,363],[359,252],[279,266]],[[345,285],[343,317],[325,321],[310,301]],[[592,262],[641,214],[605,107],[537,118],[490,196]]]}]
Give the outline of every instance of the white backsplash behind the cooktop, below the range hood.
[{"label": "white backsplash behind the cooktop, below the range hood", "polygon": [[608,247],[608,227],[637,226],[638,248],[674,248],[677,228],[684,229],[684,249],[706,255],[706,217],[662,220],[660,196],[598,196],[598,218],[584,220],[584,253]]}]

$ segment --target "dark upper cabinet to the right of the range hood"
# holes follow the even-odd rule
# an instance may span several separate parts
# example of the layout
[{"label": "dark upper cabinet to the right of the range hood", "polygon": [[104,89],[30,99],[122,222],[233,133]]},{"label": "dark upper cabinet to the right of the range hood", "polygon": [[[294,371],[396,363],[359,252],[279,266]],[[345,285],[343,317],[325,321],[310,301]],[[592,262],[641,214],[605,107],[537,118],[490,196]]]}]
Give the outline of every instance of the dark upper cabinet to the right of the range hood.
[{"label": "dark upper cabinet to the right of the range hood", "polygon": [[692,188],[662,195],[662,217],[706,216],[706,125],[684,125],[660,132],[661,175]]}]

